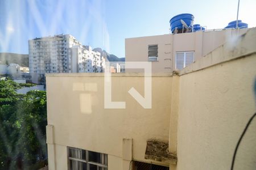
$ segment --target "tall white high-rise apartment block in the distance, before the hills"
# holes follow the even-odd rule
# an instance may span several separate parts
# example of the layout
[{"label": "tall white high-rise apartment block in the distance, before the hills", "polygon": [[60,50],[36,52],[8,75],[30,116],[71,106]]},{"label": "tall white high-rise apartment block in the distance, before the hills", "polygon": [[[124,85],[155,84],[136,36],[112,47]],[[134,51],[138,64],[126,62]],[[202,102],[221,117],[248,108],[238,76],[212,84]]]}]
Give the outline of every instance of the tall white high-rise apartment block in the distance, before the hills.
[{"label": "tall white high-rise apartment block in the distance, before the hills", "polygon": [[41,37],[28,41],[32,82],[45,83],[46,73],[103,72],[105,58],[83,46],[71,35]]}]

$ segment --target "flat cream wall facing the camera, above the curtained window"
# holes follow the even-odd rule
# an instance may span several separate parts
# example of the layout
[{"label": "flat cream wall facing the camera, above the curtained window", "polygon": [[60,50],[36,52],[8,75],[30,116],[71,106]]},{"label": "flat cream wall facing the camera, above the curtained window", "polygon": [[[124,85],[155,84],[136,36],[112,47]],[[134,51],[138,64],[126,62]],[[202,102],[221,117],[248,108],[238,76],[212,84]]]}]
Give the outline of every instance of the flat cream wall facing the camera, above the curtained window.
[{"label": "flat cream wall facing the camera, above the curtained window", "polygon": [[153,75],[152,109],[144,109],[128,94],[134,87],[144,96],[142,74],[113,74],[112,100],[126,101],[126,109],[104,109],[103,75],[47,75],[47,120],[54,126],[56,168],[65,169],[65,152],[71,146],[112,155],[110,166],[128,169],[123,138],[133,139],[134,160],[168,165],[146,160],[144,154],[148,139],[169,140],[171,75]]}]

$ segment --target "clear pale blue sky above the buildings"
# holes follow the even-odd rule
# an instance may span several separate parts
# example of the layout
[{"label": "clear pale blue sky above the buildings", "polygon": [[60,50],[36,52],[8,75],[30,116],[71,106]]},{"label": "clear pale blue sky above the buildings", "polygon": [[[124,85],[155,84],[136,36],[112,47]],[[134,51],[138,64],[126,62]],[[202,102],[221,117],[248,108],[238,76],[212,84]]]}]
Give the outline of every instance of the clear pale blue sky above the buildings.
[{"label": "clear pale blue sky above the buildings", "polygon": [[[125,39],[170,33],[170,19],[190,13],[207,29],[237,18],[238,0],[0,0],[0,52],[28,54],[28,40],[71,34],[83,45],[125,57]],[[256,1],[240,0],[238,19],[256,27]]]}]

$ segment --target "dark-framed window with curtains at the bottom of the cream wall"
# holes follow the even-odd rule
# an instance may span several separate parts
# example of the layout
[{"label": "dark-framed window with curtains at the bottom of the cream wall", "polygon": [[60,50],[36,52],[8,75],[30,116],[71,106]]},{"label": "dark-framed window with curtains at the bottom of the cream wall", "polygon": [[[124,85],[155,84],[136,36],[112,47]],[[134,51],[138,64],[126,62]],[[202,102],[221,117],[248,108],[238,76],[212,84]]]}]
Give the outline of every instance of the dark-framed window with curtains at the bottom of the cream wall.
[{"label": "dark-framed window with curtains at the bottom of the cream wall", "polygon": [[68,147],[69,170],[108,170],[108,155]]}]

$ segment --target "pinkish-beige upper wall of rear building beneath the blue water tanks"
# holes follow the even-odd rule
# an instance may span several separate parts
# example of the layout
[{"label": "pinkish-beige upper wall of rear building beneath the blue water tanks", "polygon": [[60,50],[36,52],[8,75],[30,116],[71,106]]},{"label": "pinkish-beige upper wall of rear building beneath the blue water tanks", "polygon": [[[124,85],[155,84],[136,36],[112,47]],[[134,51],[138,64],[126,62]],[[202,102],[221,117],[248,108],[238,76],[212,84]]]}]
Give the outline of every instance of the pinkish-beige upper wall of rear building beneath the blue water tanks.
[{"label": "pinkish-beige upper wall of rear building beneath the blue water tanks", "polygon": [[[247,30],[226,29],[130,38],[125,40],[125,57],[126,61],[148,61],[148,45],[158,44],[158,61],[152,62],[152,72],[170,73],[175,70],[176,52],[193,51],[196,61]],[[126,70],[127,73],[134,71],[143,70]]]}]

